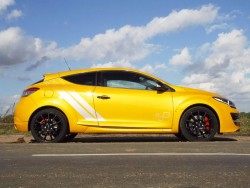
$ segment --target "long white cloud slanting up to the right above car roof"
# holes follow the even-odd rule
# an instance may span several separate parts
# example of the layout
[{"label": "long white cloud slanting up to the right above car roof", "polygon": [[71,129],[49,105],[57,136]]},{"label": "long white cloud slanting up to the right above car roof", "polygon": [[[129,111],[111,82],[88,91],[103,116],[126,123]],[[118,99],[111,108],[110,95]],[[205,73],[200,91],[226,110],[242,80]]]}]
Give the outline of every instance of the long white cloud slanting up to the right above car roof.
[{"label": "long white cloud slanting up to the right above car roof", "polygon": [[50,57],[88,59],[93,61],[138,61],[154,52],[154,45],[147,43],[152,37],[196,25],[207,25],[217,17],[218,8],[205,5],[200,9],[173,11],[166,17],[157,17],[145,26],[126,25],[118,30],[109,29],[93,38],[82,38],[77,45],[59,48]]}]

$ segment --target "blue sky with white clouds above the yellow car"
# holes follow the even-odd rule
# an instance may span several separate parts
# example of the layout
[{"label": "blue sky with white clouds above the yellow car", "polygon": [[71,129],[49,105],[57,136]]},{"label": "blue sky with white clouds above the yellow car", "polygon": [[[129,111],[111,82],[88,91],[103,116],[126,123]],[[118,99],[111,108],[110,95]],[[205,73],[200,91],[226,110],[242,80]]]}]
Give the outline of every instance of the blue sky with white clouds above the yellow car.
[{"label": "blue sky with white clouds above the yellow car", "polygon": [[0,0],[0,115],[43,74],[129,67],[250,112],[248,0]]}]

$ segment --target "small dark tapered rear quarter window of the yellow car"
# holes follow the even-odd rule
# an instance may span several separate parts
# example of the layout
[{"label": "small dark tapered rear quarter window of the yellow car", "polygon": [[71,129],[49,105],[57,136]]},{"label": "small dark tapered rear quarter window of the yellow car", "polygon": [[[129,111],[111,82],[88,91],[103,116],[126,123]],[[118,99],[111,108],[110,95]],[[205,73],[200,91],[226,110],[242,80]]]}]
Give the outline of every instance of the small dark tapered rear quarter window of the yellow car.
[{"label": "small dark tapered rear quarter window of the yellow car", "polygon": [[90,73],[73,74],[69,76],[64,76],[63,79],[74,84],[94,86],[96,80],[96,73],[90,72]]}]

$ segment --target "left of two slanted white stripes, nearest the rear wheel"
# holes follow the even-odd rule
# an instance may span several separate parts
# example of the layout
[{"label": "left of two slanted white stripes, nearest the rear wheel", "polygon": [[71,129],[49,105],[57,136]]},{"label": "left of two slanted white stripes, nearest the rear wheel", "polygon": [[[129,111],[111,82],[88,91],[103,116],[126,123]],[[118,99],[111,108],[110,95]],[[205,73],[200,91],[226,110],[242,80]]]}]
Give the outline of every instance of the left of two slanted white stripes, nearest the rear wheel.
[{"label": "left of two slanted white stripes, nearest the rear wheel", "polygon": [[89,113],[83,109],[67,92],[59,91],[58,93],[86,120],[96,121],[96,119],[90,116]]}]

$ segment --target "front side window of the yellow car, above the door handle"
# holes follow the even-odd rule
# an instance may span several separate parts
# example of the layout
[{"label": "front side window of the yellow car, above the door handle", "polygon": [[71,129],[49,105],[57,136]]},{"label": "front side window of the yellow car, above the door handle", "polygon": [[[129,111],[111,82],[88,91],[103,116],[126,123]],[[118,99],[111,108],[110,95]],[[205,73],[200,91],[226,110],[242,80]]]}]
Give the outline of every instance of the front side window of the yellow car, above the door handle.
[{"label": "front side window of the yellow car, above the door handle", "polygon": [[103,86],[114,88],[156,90],[159,83],[144,75],[127,71],[105,71],[102,73]]}]

